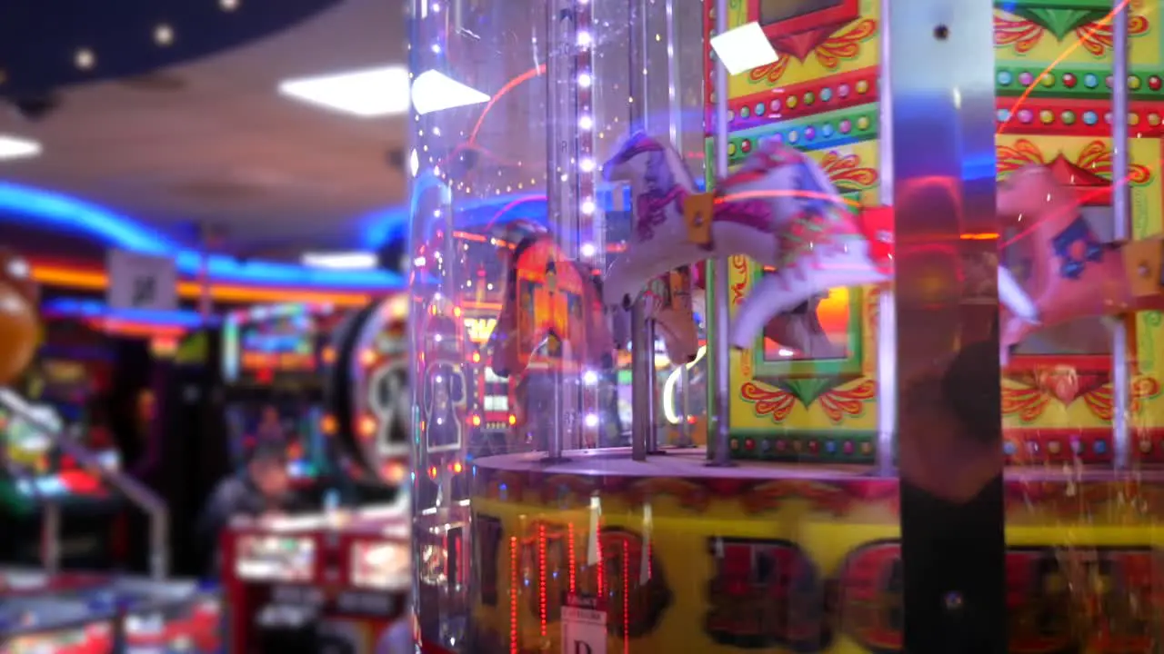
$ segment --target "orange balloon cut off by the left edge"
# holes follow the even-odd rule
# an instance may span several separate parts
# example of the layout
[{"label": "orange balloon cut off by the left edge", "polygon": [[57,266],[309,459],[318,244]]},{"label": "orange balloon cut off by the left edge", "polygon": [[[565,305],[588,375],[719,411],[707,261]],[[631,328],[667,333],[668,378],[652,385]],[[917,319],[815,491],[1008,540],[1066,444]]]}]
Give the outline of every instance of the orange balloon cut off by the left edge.
[{"label": "orange balloon cut off by the left edge", "polygon": [[0,385],[19,377],[36,354],[38,299],[28,262],[0,248]]}]

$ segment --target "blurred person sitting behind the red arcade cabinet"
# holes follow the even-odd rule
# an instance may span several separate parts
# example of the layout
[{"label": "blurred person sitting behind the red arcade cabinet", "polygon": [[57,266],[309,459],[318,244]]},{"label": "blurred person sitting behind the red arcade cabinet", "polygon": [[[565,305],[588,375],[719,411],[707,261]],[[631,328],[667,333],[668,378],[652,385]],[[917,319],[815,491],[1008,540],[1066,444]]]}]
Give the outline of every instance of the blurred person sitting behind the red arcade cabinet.
[{"label": "blurred person sitting behind the red arcade cabinet", "polygon": [[[198,520],[198,538],[217,553],[219,535],[236,517],[272,517],[307,509],[307,503],[291,488],[285,447],[270,441],[258,442],[247,465],[214,488]],[[217,568],[218,556],[214,559]]]}]

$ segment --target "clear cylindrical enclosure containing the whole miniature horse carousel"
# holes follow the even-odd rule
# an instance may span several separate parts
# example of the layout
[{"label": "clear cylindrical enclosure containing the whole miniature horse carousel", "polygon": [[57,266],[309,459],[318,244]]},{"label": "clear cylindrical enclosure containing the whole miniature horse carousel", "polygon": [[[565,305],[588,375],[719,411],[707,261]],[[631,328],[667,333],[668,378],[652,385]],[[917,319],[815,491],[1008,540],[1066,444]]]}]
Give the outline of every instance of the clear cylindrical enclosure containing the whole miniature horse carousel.
[{"label": "clear cylindrical enclosure containing the whole miniature horse carousel", "polygon": [[1155,6],[887,5],[411,0],[426,652],[1159,646]]}]

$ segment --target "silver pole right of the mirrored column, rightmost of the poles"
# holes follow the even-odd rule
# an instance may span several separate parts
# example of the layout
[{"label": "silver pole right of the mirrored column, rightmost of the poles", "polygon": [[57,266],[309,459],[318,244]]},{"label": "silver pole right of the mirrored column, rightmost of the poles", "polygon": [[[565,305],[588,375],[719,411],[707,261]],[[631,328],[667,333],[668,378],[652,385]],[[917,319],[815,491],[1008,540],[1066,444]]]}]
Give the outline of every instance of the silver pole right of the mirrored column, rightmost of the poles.
[{"label": "silver pole right of the mirrored column, rightmost of the poles", "polygon": [[[1128,202],[1128,12],[1127,0],[1113,0],[1112,24],[1112,220],[1116,241],[1130,239],[1131,209]],[[1127,320],[1135,320],[1134,315]],[[1112,330],[1112,440],[1116,469],[1131,461],[1131,433],[1128,426],[1130,384],[1128,357],[1136,356],[1128,342],[1128,325],[1116,321]]]}]

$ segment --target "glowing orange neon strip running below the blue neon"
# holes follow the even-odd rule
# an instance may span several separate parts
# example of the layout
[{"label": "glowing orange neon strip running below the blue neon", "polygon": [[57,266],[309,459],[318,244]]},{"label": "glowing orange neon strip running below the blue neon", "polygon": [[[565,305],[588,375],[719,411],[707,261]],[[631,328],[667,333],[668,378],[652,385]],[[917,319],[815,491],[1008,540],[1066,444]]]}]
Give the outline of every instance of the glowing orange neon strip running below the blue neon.
[{"label": "glowing orange neon strip running below the blue neon", "polygon": [[[105,272],[37,263],[33,264],[33,279],[45,286],[64,286],[87,291],[104,291],[109,286],[109,277]],[[178,282],[178,294],[187,299],[198,299],[203,294],[203,286],[198,282]],[[304,301],[354,307],[365,306],[372,299],[372,296],[360,292],[328,292],[236,284],[211,284],[211,297],[220,301],[242,304]]]}]

